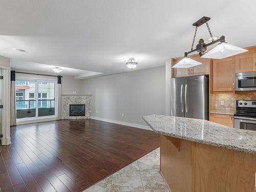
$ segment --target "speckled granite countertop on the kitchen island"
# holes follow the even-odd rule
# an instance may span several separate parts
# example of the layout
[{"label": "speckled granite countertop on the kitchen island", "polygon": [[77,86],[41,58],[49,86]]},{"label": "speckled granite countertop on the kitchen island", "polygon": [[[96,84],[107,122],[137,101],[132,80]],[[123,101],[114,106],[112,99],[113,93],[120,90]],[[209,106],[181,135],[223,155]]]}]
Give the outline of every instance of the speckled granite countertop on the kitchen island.
[{"label": "speckled granite countertop on the kitchen island", "polygon": [[256,155],[256,131],[184,117],[148,115],[143,119],[158,134]]}]

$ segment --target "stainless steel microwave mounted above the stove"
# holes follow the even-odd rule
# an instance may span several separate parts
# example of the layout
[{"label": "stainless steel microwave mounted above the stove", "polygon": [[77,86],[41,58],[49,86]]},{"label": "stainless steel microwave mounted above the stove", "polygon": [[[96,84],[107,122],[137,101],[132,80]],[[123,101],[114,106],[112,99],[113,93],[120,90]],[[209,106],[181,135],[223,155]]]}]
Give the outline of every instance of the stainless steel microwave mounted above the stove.
[{"label": "stainless steel microwave mounted above the stove", "polygon": [[256,91],[256,72],[236,73],[236,91]]}]

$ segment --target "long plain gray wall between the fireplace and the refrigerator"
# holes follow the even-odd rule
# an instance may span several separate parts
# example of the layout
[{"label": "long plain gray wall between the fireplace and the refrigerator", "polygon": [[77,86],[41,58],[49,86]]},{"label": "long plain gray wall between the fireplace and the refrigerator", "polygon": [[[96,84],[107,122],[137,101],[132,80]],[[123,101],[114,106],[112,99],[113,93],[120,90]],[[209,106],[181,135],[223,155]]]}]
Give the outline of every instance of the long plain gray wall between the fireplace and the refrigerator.
[{"label": "long plain gray wall between the fireplace and the refrigerator", "polygon": [[82,89],[95,117],[146,125],[142,116],[165,114],[165,66],[85,79]]}]

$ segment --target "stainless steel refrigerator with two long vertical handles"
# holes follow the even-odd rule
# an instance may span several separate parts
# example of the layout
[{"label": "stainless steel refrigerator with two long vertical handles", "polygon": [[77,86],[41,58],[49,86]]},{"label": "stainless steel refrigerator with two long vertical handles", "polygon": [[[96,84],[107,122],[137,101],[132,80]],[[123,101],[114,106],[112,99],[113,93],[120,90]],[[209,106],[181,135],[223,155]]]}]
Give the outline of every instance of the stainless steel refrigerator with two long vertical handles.
[{"label": "stainless steel refrigerator with two long vertical handles", "polygon": [[207,75],[171,80],[170,114],[209,120],[209,80]]}]

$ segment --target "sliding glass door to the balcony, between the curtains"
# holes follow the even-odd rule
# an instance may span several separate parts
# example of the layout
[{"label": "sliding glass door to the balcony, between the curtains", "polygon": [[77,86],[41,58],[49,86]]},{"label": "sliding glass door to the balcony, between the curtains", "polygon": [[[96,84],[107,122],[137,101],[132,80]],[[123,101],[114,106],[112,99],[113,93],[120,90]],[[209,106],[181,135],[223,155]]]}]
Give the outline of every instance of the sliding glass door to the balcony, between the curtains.
[{"label": "sliding glass door to the balcony, between the curtains", "polygon": [[55,82],[17,79],[17,119],[55,116],[55,95]]}]

